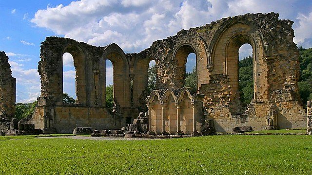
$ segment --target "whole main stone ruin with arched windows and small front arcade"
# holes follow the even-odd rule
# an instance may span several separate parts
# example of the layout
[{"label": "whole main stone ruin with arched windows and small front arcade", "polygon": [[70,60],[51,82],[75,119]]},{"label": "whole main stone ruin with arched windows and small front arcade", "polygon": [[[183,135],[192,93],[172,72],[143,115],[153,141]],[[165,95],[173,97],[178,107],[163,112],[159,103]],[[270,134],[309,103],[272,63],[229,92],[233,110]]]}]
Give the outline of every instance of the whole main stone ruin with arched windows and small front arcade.
[{"label": "whole main stone ruin with arched windows and small front arcade", "polygon": [[[41,95],[29,123],[44,133],[71,133],[76,127],[113,131],[148,110],[148,132],[157,134],[196,135],[212,127],[216,132],[232,132],[235,127],[306,127],[307,113],[298,94],[299,53],[293,42],[293,21],[278,16],[259,13],[222,18],[157,40],[140,53],[125,54],[117,44],[96,47],[47,37],[41,43],[38,67]],[[254,99],[247,107],[242,105],[238,89],[238,49],[246,43],[253,48],[254,60]],[[62,101],[64,53],[74,57],[75,104]],[[183,88],[190,53],[196,55],[195,96]],[[111,60],[114,69],[113,111],[105,104],[105,60]],[[152,60],[156,62],[157,88],[148,94]],[[0,73],[7,78],[3,75],[8,73]],[[0,87],[11,87],[8,82],[12,78],[9,80],[1,81]],[[184,95],[177,94],[179,89],[184,89],[180,91]],[[9,90],[5,95],[15,93],[12,87],[5,90]],[[12,115],[10,106],[15,101],[0,102],[8,106],[6,115]]]}]

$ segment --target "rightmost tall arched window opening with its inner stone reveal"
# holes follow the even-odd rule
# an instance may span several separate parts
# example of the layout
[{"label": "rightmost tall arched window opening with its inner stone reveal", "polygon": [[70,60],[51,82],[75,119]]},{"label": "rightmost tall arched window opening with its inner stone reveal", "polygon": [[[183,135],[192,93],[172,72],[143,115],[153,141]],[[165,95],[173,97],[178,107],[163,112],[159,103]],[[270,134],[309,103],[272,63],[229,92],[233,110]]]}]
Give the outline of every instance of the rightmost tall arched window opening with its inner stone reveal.
[{"label": "rightmost tall arched window opening with its inner stone reveal", "polygon": [[254,48],[254,40],[249,35],[232,37],[226,48],[226,74],[231,81],[232,98],[239,100],[242,111],[254,100]]}]

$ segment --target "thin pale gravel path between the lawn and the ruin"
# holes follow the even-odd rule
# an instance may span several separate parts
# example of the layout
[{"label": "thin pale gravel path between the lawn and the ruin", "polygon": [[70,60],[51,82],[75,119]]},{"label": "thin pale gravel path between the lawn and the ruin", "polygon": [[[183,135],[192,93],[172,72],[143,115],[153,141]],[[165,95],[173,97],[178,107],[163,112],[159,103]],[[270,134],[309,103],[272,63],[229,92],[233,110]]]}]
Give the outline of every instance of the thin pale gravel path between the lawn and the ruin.
[{"label": "thin pale gravel path between the lawn and the ruin", "polygon": [[117,138],[117,137],[86,137],[86,136],[59,136],[59,137],[39,137],[39,139],[67,138],[78,140],[152,140],[142,138]]}]

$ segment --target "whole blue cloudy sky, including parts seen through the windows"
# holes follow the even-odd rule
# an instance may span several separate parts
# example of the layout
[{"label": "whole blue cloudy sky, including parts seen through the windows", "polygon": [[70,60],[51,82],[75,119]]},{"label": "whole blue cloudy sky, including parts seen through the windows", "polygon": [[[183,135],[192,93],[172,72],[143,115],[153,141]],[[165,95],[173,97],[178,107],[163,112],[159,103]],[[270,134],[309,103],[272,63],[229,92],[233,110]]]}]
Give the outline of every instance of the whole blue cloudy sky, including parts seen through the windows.
[{"label": "whole blue cloudy sky, including parts seen through the windows", "polygon": [[[294,21],[294,42],[312,47],[312,0],[0,0],[0,51],[9,56],[17,78],[17,102],[32,102],[40,95],[37,67],[40,43],[47,36],[95,46],[115,42],[125,53],[133,53],[181,29],[272,11],[280,19]],[[244,46],[240,53],[247,56],[251,48]],[[75,96],[72,58],[64,55],[63,59],[64,91]],[[190,71],[193,65],[188,65]],[[112,84],[111,65],[107,84]]]}]

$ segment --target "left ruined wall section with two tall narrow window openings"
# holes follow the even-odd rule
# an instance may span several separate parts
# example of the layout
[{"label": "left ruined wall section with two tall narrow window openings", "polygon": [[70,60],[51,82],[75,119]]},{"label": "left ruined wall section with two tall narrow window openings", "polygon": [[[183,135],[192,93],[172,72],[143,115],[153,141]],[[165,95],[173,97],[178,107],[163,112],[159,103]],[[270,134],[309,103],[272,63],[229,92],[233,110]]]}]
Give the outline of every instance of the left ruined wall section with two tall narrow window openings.
[{"label": "left ruined wall section with two tall narrow window openings", "polygon": [[[75,104],[63,103],[64,53],[71,53],[76,69]],[[38,71],[41,95],[33,118],[43,132],[71,133],[76,127],[116,129],[132,115],[130,102],[129,64],[116,45],[95,47],[69,38],[47,37],[41,43]],[[113,62],[115,113],[105,104],[105,60]],[[122,92],[122,93],[121,93]]]}]

